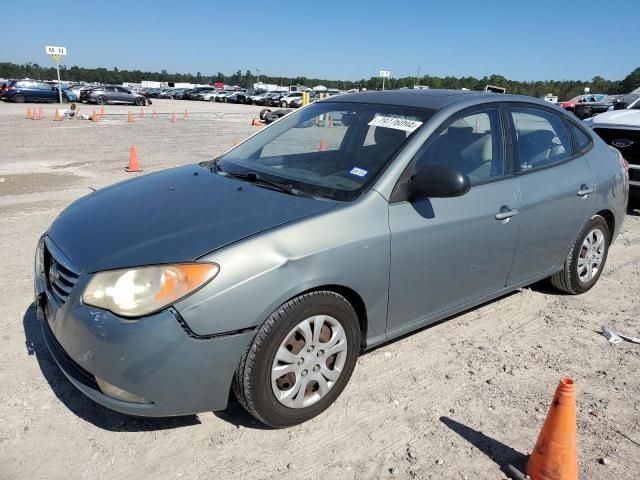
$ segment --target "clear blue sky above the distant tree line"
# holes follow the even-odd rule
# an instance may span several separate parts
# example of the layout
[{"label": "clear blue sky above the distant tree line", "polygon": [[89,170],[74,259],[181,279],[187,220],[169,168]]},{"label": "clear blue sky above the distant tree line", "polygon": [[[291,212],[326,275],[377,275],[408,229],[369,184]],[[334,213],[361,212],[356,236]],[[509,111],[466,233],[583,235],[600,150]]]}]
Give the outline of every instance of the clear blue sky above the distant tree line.
[{"label": "clear blue sky above the distant tree line", "polygon": [[[22,11],[22,12],[21,12]],[[499,74],[620,80],[640,66],[639,0],[17,0],[0,62],[358,80]]]}]

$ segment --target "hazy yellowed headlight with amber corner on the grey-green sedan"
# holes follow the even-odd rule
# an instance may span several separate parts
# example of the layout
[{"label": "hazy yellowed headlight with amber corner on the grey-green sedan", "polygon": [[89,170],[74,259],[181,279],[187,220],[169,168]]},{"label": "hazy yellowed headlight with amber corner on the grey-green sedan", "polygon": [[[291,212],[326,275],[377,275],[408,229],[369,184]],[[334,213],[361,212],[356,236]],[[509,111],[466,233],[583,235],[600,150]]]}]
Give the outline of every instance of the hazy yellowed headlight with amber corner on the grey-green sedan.
[{"label": "hazy yellowed headlight with amber corner on the grey-green sedan", "polygon": [[100,272],[89,281],[82,301],[122,317],[140,317],[180,300],[219,271],[215,263],[183,263]]}]

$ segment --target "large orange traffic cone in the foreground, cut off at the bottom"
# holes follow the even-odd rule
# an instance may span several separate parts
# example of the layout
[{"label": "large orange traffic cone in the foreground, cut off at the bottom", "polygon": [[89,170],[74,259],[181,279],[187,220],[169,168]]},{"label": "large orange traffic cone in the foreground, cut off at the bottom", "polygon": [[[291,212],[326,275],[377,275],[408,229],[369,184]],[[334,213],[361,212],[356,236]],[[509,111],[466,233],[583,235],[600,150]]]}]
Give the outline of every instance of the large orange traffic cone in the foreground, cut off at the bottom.
[{"label": "large orange traffic cone in the foreground, cut off at the bottom", "polygon": [[547,419],[527,463],[531,480],[577,480],[576,387],[560,379]]}]

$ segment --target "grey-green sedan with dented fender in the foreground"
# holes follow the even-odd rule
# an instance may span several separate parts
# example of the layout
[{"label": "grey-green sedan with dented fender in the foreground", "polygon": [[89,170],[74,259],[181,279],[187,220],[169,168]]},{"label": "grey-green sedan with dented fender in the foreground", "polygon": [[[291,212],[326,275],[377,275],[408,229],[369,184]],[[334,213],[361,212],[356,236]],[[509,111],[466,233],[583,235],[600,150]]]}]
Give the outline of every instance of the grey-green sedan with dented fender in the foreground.
[{"label": "grey-green sedan with dented fender in the foreground", "polygon": [[627,195],[620,153],[541,100],[345,94],[75,201],[38,242],[37,313],[102,405],[192,414],[233,389],[286,427],[363,350],[548,277],[588,291]]}]

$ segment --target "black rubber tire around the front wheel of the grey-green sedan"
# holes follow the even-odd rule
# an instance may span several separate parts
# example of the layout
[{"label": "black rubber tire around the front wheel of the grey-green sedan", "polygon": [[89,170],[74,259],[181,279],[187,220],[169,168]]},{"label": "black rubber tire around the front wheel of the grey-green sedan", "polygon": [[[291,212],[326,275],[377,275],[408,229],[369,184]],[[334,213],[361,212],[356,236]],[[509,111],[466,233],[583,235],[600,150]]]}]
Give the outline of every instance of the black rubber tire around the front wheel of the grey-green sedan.
[{"label": "black rubber tire around the front wheel of the grey-green sedan", "polygon": [[[347,342],[346,361],[335,384],[316,403],[289,408],[273,393],[272,364],[276,351],[292,329],[314,315],[330,315],[340,323]],[[280,306],[260,327],[240,359],[233,379],[234,394],[251,415],[271,427],[283,428],[306,422],[326,410],[342,393],[353,373],[359,348],[358,317],[343,296],[330,291],[300,295]]]}]

